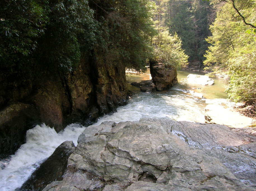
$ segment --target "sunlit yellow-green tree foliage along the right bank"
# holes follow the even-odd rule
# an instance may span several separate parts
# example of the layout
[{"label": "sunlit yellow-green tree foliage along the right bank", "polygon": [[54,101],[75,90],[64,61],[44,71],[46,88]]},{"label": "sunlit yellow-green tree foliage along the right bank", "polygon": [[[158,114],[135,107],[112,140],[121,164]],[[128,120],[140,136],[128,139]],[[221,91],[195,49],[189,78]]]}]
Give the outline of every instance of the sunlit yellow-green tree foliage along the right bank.
[{"label": "sunlit yellow-green tree foliage along the right bank", "polygon": [[[236,5],[247,21],[255,23],[256,1],[250,1],[252,2],[253,6],[250,7],[247,4]],[[224,3],[219,7],[210,30],[213,36],[208,37],[207,41],[212,46],[205,54],[204,64],[208,69],[225,70],[229,74],[229,98],[235,101],[255,101],[256,38],[253,32],[248,32],[253,31],[252,27],[244,23],[232,4]]]}]

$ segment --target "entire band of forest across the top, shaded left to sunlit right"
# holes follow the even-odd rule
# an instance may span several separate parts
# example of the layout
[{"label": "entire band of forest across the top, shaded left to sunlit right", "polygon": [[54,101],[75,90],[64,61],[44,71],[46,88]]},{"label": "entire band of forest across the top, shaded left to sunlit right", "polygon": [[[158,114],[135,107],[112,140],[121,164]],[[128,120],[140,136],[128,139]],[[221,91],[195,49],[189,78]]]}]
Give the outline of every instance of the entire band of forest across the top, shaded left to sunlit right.
[{"label": "entire band of forest across the top, shaded left to sunlit right", "polygon": [[1,68],[72,72],[84,54],[137,71],[151,60],[175,68],[199,61],[208,71],[229,75],[231,99],[255,101],[255,0],[4,0],[0,5]]}]

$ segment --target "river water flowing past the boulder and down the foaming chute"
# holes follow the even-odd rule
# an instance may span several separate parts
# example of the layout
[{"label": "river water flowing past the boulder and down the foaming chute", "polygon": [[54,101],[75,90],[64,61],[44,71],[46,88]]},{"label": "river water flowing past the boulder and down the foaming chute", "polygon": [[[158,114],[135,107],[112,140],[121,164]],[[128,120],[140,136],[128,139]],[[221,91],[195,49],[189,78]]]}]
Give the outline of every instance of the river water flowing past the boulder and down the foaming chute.
[{"label": "river water flowing past the boulder and down the foaming chute", "polygon": [[[191,72],[190,72],[191,73]],[[119,107],[116,113],[105,115],[98,119],[96,124],[103,121],[137,121],[142,117],[169,117],[174,120],[186,120],[191,122],[204,122],[204,108],[206,101],[191,94],[189,90],[203,93],[209,101],[226,98],[225,84],[215,79],[213,86],[189,85],[186,83],[188,72],[179,71],[179,84],[168,91],[142,93],[138,88],[128,104]],[[149,74],[141,76],[128,74],[129,81],[141,81],[149,79]],[[198,89],[201,88],[201,89]],[[0,161],[0,190],[15,190],[27,180],[31,173],[49,157],[55,148],[64,141],[73,141],[77,144],[77,137],[86,127],[79,124],[68,125],[64,131],[56,133],[54,129],[46,125],[37,125],[27,131],[26,143],[8,159]]]}]

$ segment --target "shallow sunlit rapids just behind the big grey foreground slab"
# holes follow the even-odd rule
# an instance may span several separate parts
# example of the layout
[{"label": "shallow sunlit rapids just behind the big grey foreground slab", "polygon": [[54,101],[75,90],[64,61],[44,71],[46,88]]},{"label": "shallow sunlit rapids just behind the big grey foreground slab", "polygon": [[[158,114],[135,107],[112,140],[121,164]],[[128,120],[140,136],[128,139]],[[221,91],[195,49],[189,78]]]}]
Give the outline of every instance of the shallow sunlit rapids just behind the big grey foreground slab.
[{"label": "shallow sunlit rapids just behind the big grey foreground slab", "polygon": [[97,121],[138,121],[142,117],[169,117],[174,120],[204,122],[205,101],[180,91],[138,93],[117,113],[105,115]]}]

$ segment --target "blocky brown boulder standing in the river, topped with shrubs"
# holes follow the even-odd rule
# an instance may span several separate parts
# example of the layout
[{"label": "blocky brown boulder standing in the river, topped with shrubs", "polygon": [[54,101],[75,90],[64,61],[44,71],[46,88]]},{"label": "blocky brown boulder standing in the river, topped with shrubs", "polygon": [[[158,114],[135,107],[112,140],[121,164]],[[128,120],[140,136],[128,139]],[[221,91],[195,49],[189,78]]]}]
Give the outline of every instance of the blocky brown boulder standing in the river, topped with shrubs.
[{"label": "blocky brown boulder standing in the river, topped with shrubs", "polygon": [[151,62],[150,73],[156,90],[162,91],[178,83],[176,69],[167,67],[163,62]]}]

